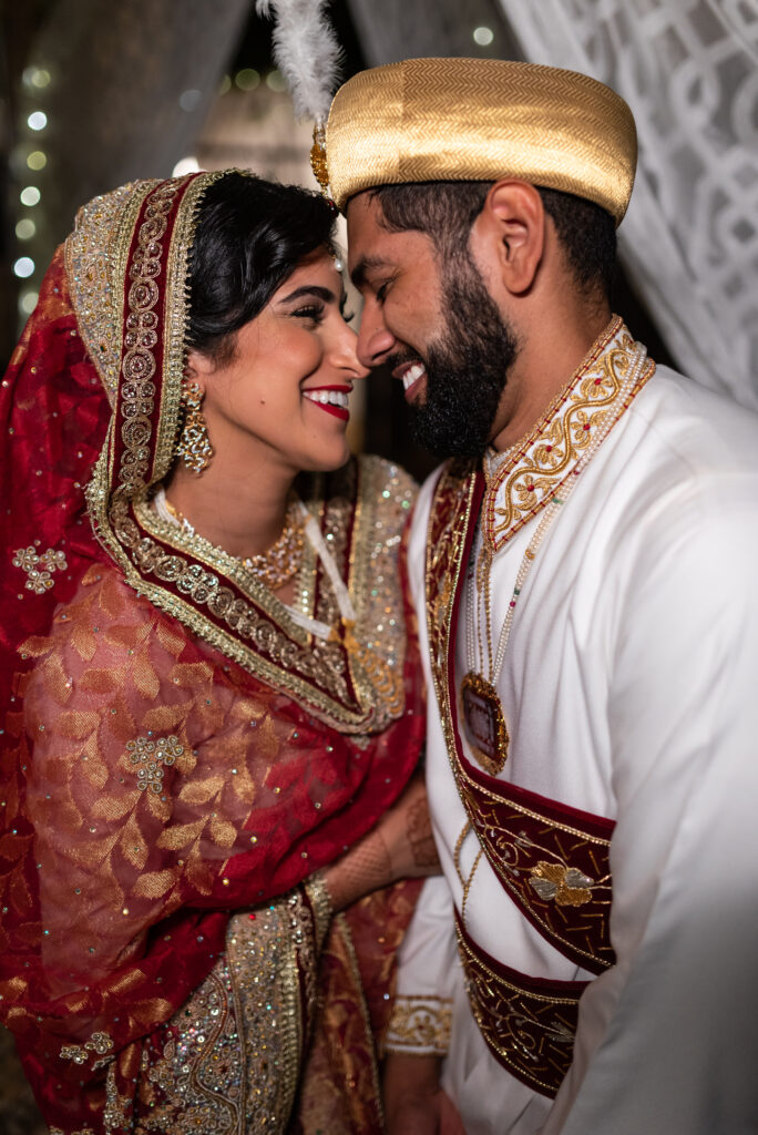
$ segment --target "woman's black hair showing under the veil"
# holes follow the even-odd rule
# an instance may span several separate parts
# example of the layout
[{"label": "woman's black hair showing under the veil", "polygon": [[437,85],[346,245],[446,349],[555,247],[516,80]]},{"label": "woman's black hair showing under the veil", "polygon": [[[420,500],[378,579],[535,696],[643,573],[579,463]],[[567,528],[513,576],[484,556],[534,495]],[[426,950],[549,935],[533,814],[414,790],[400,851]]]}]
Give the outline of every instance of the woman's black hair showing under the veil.
[{"label": "woman's black hair showing under the veil", "polygon": [[189,259],[187,346],[226,362],[254,319],[318,249],[334,252],[335,213],[318,193],[245,174],[214,182],[200,204]]}]

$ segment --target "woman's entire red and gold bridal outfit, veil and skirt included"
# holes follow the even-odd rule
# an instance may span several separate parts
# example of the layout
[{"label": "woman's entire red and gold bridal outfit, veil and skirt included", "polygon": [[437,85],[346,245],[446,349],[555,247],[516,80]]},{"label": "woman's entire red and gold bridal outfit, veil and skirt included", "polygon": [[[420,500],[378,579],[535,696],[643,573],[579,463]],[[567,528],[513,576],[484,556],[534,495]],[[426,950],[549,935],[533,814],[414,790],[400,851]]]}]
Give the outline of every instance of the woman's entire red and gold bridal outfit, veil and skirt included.
[{"label": "woman's entire red and gold bridal outfit, veil and skirt included", "polygon": [[381,1129],[415,884],[331,918],[318,873],[419,755],[413,489],[301,486],[327,554],[294,612],[155,512],[216,176],[83,209],[0,390],[0,1019],[65,1135]]}]

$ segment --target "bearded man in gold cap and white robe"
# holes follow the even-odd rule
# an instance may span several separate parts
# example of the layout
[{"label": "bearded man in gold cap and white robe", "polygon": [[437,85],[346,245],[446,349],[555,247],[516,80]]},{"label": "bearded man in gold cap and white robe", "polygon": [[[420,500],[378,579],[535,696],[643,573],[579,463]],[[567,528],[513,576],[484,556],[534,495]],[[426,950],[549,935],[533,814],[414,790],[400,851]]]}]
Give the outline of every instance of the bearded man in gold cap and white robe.
[{"label": "bearded man in gold cap and white robe", "polygon": [[410,540],[444,878],[389,1129],[439,1129],[441,1070],[468,1135],[753,1130],[758,424],[610,311],[631,112],[407,60],[342,87],[326,149],[361,361],[453,459]]}]

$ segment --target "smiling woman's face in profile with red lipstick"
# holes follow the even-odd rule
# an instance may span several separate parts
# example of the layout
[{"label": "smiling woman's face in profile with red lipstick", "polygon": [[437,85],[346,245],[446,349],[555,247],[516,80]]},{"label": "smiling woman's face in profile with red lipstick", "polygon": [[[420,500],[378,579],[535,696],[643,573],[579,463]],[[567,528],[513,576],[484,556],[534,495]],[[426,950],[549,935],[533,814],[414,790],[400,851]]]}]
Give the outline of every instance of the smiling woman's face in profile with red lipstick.
[{"label": "smiling woman's face in profile with red lipstick", "polygon": [[229,362],[191,351],[187,373],[205,396],[216,451],[239,474],[261,462],[286,472],[338,469],[348,457],[347,395],[368,371],[343,318],[340,275],[326,250],[301,263],[237,331]]}]

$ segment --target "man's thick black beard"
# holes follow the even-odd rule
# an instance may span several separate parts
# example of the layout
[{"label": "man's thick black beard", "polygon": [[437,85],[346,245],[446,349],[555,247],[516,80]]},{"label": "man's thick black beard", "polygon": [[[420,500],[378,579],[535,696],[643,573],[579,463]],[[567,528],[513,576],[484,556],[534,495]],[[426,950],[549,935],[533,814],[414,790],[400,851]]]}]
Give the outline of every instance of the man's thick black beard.
[{"label": "man's thick black beard", "polygon": [[519,345],[471,259],[443,284],[447,330],[423,358],[423,403],[412,403],[419,442],[440,457],[478,457],[487,448]]}]

